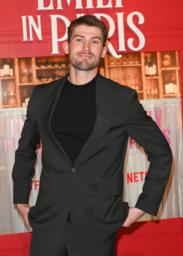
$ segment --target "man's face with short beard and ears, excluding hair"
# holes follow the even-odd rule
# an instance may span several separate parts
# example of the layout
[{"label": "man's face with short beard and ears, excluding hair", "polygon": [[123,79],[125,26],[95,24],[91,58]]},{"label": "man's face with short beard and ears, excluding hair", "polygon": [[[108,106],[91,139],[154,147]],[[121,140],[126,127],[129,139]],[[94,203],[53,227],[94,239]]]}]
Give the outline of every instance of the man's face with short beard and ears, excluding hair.
[{"label": "man's face with short beard and ears, excluding hair", "polygon": [[95,69],[107,51],[98,27],[80,25],[73,30],[70,43],[64,43],[64,53],[69,54],[70,65],[78,70]]}]

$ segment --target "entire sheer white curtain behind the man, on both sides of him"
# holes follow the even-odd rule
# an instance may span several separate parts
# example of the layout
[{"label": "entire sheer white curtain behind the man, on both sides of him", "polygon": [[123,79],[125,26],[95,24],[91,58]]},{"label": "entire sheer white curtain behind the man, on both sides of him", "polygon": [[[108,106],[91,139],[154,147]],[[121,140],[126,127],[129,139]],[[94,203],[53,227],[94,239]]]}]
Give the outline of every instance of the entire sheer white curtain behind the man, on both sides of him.
[{"label": "entire sheer white curtain behind the man, on both sides of him", "polygon": [[[165,219],[182,217],[183,211],[183,140],[182,112],[180,98],[142,100],[141,104],[156,121],[164,133],[173,152],[173,166],[157,217],[145,214],[142,220]],[[13,205],[13,182],[11,172],[14,164],[15,150],[18,147],[26,108],[0,109],[0,234],[20,233],[31,231],[16,207]],[[38,161],[36,175],[32,180],[30,204],[34,205],[41,172],[41,148],[37,151]],[[142,192],[145,172],[149,162],[146,154],[139,145],[129,139],[124,168],[124,201],[129,206],[135,205]]]}]

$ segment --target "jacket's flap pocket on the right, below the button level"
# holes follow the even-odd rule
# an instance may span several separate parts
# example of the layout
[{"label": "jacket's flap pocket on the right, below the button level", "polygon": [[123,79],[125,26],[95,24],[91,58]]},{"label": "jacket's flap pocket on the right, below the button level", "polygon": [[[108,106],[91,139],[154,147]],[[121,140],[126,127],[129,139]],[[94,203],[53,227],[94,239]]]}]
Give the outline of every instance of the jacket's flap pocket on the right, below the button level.
[{"label": "jacket's flap pocket on the right, below the button level", "polygon": [[98,181],[97,195],[99,197],[117,196],[122,193],[122,180],[117,181]]}]

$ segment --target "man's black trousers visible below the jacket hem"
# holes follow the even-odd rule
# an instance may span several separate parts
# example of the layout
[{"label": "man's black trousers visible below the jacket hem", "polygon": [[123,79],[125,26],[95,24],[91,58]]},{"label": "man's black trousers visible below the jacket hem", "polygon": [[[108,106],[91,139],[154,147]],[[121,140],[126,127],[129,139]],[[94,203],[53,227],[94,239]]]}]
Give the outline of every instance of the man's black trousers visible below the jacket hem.
[{"label": "man's black trousers visible below the jacket hem", "polygon": [[58,243],[45,241],[32,231],[30,256],[115,256],[115,239],[116,235],[102,244],[81,246],[74,236],[72,223],[66,222]]}]

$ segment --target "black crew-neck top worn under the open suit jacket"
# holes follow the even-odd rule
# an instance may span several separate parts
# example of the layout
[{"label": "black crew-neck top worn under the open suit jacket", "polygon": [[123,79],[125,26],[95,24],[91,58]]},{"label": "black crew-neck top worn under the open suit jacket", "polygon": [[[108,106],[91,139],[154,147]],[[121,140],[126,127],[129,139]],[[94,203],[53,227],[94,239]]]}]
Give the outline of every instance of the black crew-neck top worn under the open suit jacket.
[{"label": "black crew-neck top worn under the open suit jacket", "polygon": [[51,119],[53,134],[72,163],[93,131],[96,79],[97,76],[84,85],[75,85],[66,79]]}]

